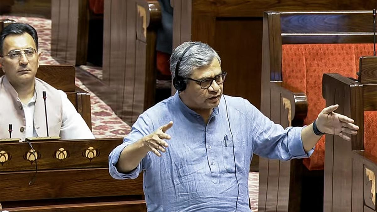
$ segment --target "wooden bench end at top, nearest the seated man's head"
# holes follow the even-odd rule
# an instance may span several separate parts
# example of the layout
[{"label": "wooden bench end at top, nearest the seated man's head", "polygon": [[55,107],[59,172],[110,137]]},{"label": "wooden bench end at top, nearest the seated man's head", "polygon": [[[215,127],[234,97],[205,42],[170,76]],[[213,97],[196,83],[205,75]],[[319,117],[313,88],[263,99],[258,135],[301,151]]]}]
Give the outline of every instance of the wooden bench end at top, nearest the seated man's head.
[{"label": "wooden bench end at top, nearest the seated man's head", "polygon": [[60,63],[86,64],[89,33],[87,1],[51,0],[51,56]]}]

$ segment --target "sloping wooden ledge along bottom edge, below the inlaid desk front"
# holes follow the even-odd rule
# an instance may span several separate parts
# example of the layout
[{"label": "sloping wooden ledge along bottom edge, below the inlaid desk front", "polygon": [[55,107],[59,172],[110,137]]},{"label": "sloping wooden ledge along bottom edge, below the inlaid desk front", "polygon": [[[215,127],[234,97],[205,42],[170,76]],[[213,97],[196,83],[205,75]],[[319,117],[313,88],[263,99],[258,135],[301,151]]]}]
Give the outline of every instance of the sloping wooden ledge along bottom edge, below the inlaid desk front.
[{"label": "sloping wooden ledge along bottom edge, below the inlaid desk front", "polygon": [[107,203],[81,203],[54,206],[38,206],[38,207],[12,207],[6,210],[28,211],[28,212],[92,212],[92,211],[111,211],[111,212],[144,212],[147,211],[145,201],[117,201]]}]

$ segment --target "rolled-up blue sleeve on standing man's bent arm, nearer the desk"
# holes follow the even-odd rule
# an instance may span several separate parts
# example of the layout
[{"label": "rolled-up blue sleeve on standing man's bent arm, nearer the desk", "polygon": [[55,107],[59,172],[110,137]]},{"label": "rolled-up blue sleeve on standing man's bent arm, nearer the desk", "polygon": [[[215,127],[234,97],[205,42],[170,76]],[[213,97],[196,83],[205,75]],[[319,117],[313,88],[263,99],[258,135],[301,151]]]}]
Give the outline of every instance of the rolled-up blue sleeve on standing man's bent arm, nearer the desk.
[{"label": "rolled-up blue sleeve on standing man's bent arm, nearer the desk", "polygon": [[118,180],[135,179],[139,176],[140,172],[143,169],[145,170],[146,167],[148,167],[148,164],[150,163],[149,152],[143,158],[143,160],[141,160],[139,165],[129,173],[119,172],[118,169],[116,169],[116,164],[118,163],[120,154],[123,151],[123,149],[126,146],[135,143],[144,136],[149,135],[151,133],[150,129],[153,129],[153,124],[151,123],[149,118],[147,118],[146,115],[140,115],[139,118],[136,120],[135,124],[133,124],[130,134],[123,139],[123,143],[115,147],[115,149],[113,149],[113,151],[111,151],[109,154],[109,173],[111,177]]}]

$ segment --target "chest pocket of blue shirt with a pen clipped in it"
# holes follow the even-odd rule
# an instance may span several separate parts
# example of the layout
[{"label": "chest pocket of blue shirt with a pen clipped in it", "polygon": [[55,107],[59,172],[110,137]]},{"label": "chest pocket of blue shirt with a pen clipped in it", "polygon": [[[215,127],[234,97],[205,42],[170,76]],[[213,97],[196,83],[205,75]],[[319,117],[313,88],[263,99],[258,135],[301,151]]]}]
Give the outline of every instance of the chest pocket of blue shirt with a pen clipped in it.
[{"label": "chest pocket of blue shirt with a pen clipped in it", "polygon": [[241,173],[245,169],[245,140],[234,139],[234,156],[233,141],[222,140],[222,157],[224,160],[224,168],[229,173],[234,173],[234,158],[236,158],[237,173]]}]

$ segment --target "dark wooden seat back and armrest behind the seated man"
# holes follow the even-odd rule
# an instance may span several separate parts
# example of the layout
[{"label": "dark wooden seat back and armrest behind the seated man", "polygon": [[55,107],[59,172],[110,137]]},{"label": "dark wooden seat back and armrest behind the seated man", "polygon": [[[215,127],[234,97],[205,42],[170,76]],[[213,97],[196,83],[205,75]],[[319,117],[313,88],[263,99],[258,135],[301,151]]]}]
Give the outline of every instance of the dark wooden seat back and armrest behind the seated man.
[{"label": "dark wooden seat back and armrest behind the seated man", "polygon": [[[0,77],[4,74],[0,67]],[[75,85],[75,67],[71,65],[40,65],[35,77],[52,87],[62,90],[81,114],[89,129],[92,129],[90,93]]]}]

